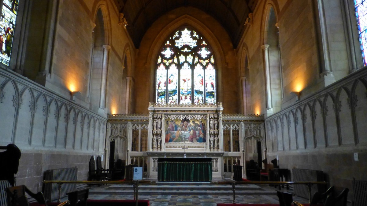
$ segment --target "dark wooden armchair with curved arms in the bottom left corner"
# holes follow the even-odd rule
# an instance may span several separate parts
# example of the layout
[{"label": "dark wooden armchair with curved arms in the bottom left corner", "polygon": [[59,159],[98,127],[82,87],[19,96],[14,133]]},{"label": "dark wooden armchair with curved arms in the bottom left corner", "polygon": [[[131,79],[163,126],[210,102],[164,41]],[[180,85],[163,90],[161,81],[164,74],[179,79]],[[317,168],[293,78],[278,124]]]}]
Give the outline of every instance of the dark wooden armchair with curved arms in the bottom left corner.
[{"label": "dark wooden armchair with curved arms in the bottom left corner", "polygon": [[[34,194],[30,191],[25,185],[8,187],[5,189],[7,194],[7,203],[8,206],[47,206],[46,200],[43,196],[42,192],[37,192]],[[29,203],[28,198],[26,196],[28,194],[30,197],[34,198],[37,202]],[[51,204],[49,204],[51,205]],[[52,204],[57,206],[69,205],[69,201],[65,201],[62,203]]]}]

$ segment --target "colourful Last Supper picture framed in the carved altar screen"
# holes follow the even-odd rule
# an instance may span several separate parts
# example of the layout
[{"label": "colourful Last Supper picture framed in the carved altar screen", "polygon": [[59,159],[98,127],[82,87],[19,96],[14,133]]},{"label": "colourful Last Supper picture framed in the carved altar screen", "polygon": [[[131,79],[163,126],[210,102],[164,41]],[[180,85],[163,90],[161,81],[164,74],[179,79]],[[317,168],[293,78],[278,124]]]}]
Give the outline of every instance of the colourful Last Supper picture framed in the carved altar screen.
[{"label": "colourful Last Supper picture framed in the carved altar screen", "polygon": [[206,142],[205,119],[167,119],[164,142]]}]

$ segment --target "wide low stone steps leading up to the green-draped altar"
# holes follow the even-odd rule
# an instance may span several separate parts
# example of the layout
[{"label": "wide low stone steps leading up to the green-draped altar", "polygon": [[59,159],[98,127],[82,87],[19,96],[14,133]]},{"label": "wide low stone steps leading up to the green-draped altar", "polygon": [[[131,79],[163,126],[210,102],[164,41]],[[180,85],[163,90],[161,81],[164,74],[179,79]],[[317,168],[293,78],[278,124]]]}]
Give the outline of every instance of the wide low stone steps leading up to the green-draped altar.
[{"label": "wide low stone steps leading up to the green-draped altar", "polygon": [[[138,190],[139,195],[233,195],[232,186],[209,182],[156,182],[139,184]],[[89,190],[91,195],[132,195],[133,193],[133,187],[126,184],[92,187]],[[276,191],[246,184],[236,186],[236,195],[276,195]]]}]

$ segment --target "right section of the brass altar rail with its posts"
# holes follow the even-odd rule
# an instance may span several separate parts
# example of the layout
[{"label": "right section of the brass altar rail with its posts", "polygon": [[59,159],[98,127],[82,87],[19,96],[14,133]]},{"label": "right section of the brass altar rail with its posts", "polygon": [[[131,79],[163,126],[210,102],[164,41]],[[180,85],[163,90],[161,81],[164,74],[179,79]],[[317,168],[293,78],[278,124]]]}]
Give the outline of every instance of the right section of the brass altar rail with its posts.
[{"label": "right section of the brass altar rail with its posts", "polygon": [[273,185],[284,185],[284,184],[305,184],[308,187],[309,192],[309,202],[311,202],[312,194],[311,194],[311,187],[314,184],[327,184],[326,181],[299,181],[299,182],[285,182],[285,181],[214,181],[211,182],[212,184],[230,184],[232,185],[233,191],[233,203],[236,203],[235,191],[237,184],[273,184]]}]

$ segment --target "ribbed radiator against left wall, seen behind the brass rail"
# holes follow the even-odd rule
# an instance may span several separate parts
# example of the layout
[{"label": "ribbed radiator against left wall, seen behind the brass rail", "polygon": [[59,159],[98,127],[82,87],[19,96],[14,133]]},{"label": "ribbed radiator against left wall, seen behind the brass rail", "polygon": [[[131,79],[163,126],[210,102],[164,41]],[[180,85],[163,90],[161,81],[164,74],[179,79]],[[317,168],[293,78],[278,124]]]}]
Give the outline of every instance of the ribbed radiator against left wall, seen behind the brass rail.
[{"label": "ribbed radiator against left wall, seen behind the brass rail", "polygon": [[[43,176],[43,180],[77,180],[78,168],[48,169]],[[76,184],[62,184],[61,198],[66,196],[66,192],[76,190]],[[58,184],[43,184],[42,192],[46,201],[54,201],[59,198]]]}]

